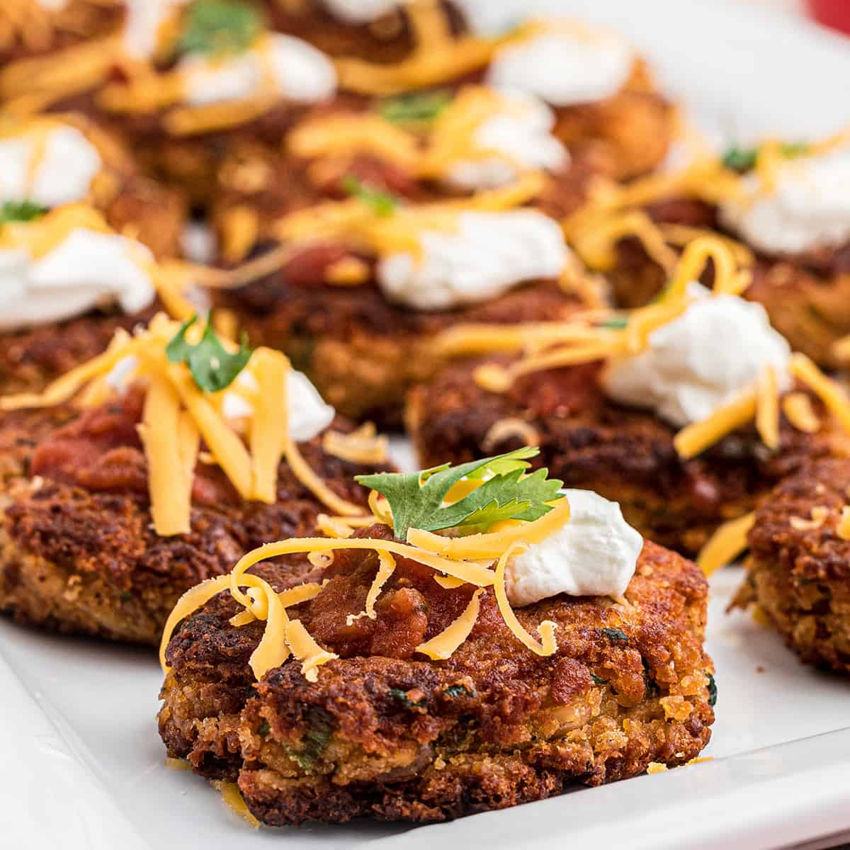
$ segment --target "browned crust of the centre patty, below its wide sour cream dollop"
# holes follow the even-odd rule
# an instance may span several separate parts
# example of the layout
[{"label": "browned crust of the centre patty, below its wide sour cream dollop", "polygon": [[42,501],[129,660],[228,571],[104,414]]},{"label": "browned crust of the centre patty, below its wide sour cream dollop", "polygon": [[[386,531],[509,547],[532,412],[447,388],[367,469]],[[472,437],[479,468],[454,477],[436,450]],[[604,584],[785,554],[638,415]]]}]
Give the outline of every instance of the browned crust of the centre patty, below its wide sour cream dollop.
[{"label": "browned crust of the centre patty, below its wide sour cream dollop", "polygon": [[[337,411],[397,426],[405,393],[439,368],[433,337],[462,322],[558,320],[581,301],[552,281],[530,283],[489,303],[422,311],[390,303],[374,283],[328,286],[320,269],[345,252],[318,246],[219,305],[233,309],[252,342],[286,352]],[[303,281],[303,282],[302,282]]]}]

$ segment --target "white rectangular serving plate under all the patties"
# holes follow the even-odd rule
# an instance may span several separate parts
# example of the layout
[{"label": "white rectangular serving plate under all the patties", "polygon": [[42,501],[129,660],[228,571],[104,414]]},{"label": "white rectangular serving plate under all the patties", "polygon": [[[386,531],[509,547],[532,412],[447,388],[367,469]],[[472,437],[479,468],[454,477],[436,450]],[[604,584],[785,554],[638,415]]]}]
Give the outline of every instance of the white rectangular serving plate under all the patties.
[{"label": "white rectangular serving plate under all the patties", "polygon": [[[500,0],[483,0],[500,3]],[[501,0],[619,26],[667,90],[728,141],[850,123],[850,41],[723,0]],[[711,582],[719,699],[711,762],[451,824],[250,830],[195,776],[164,766],[161,674],[142,649],[0,621],[0,847],[250,850],[443,847],[835,847],[850,840],[850,685],[725,615],[740,570]]]}]

